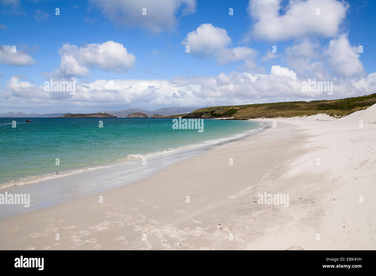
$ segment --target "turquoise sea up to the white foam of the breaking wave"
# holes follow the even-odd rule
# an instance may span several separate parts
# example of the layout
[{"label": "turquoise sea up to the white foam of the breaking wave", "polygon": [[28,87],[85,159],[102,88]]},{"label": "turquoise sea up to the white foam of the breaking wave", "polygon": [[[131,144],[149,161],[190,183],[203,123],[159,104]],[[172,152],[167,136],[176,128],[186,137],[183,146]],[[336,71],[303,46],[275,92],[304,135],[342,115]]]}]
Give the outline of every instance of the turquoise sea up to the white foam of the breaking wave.
[{"label": "turquoise sea up to the white foam of the breaking wave", "polygon": [[147,161],[260,128],[256,122],[216,119],[205,119],[201,133],[172,126],[173,119],[164,118],[0,118],[0,188]]}]

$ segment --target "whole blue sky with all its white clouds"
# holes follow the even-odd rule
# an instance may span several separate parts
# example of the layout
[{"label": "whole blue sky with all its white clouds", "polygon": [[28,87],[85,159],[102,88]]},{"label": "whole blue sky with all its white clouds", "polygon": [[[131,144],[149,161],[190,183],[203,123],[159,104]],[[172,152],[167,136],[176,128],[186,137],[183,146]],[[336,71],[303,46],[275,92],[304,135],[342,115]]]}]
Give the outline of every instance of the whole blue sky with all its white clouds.
[{"label": "whole blue sky with all its white clouds", "polygon": [[[166,0],[162,7],[150,0],[0,0],[0,112],[152,110],[374,93],[376,2],[276,5],[256,0]],[[314,14],[316,6],[320,15]],[[109,41],[115,44],[105,47],[111,54],[104,60],[96,54],[81,59],[81,51],[94,51],[87,45]],[[67,43],[79,50],[59,53]],[[190,53],[185,44],[191,44]],[[17,47],[17,57],[7,45]],[[356,52],[359,45],[363,53]],[[119,60],[117,51],[123,53]],[[69,68],[73,65],[62,62],[63,56],[80,68]],[[76,81],[76,94],[46,95],[43,84],[51,77]],[[308,78],[334,81],[338,89],[330,96],[304,94],[299,83]],[[229,83],[236,89],[227,92]]]}]

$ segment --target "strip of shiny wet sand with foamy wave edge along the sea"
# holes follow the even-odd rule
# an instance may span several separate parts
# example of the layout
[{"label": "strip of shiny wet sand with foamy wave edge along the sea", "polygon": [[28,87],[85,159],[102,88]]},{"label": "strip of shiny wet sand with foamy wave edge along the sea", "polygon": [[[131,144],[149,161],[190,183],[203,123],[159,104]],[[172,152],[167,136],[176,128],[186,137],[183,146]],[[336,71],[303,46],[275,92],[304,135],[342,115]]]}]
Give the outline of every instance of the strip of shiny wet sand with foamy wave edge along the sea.
[{"label": "strip of shiny wet sand with foamy wave edge along the sea", "polygon": [[[179,148],[152,152],[149,154],[130,154],[129,160],[103,164],[98,167],[74,169],[59,174],[36,175],[17,181],[17,185],[2,184],[0,193],[29,194],[32,204],[28,208],[23,205],[0,205],[0,221],[6,217],[48,208],[74,199],[95,195],[115,187],[153,175],[159,170],[176,162],[200,155],[223,143],[229,143],[264,131],[264,128],[252,128],[242,133],[202,141]],[[146,158],[144,166],[143,162]],[[25,181],[26,180],[26,181]],[[24,183],[24,182],[26,183]],[[59,191],[59,193],[56,193]]]}]

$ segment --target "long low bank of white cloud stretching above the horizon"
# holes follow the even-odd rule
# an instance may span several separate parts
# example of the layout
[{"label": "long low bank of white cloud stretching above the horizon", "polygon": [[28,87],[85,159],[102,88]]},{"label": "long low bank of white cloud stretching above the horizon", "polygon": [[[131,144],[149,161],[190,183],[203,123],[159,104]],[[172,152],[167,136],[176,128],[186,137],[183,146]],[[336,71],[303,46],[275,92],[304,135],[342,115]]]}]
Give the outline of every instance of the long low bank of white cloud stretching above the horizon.
[{"label": "long low bank of white cloud stretching above the horizon", "polygon": [[[312,81],[322,81],[312,78]],[[329,78],[333,94],[302,91],[302,81],[287,67],[274,65],[270,73],[231,72],[212,77],[175,77],[171,80],[96,80],[76,81],[76,93],[45,92],[12,76],[8,85],[0,89],[1,112],[23,110],[34,112],[98,112],[139,107],[147,110],[170,106],[213,106],[270,103],[279,101],[309,101],[338,99],[374,93],[376,73],[358,79]],[[229,84],[233,84],[233,90]]]}]

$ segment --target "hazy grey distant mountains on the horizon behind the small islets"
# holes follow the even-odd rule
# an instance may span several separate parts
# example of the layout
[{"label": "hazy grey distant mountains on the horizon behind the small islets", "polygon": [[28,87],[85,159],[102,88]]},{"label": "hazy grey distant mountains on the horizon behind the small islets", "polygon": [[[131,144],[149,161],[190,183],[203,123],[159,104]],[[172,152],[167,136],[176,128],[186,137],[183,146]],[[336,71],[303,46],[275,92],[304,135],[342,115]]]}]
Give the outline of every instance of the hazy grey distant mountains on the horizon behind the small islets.
[{"label": "hazy grey distant mountains on the horizon behind the small islets", "polygon": [[[147,111],[139,108],[127,108],[119,111],[103,111],[98,113],[108,113],[117,117],[126,117],[130,113],[135,112],[141,112],[146,114],[147,116],[151,117],[153,114],[158,115],[164,115],[164,116],[170,116],[170,115],[177,115],[177,114],[184,114],[184,113],[190,113],[196,109],[199,109],[199,107],[167,107],[167,108],[161,108],[153,111]],[[35,118],[35,117],[61,117],[64,114],[67,114],[69,112],[65,113],[45,113],[45,114],[38,114],[38,113],[23,113],[23,112],[8,112],[8,113],[0,113],[0,117],[24,117],[24,118]]]}]

